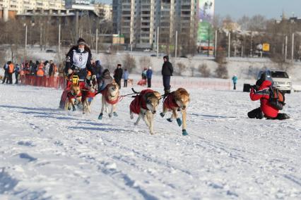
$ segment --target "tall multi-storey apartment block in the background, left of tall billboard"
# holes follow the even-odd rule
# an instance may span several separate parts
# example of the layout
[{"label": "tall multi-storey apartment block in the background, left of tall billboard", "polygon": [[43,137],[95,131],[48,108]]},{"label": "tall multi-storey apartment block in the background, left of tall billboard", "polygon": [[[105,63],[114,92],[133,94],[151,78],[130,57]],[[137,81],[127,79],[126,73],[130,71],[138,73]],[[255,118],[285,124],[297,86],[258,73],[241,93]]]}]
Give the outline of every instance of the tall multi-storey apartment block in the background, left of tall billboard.
[{"label": "tall multi-storey apartment block in the background, left of tall billboard", "polygon": [[196,36],[198,0],[113,0],[113,31],[124,35],[126,44],[151,48]]}]

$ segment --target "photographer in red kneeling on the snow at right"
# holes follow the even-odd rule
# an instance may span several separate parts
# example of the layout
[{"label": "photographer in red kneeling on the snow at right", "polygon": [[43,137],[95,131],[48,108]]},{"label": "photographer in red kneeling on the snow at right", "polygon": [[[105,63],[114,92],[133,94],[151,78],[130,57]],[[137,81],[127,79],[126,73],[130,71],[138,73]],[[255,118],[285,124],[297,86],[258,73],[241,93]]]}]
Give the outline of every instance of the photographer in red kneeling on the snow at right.
[{"label": "photographer in red kneeling on the snow at right", "polygon": [[250,111],[248,113],[249,118],[256,119],[273,119],[273,120],[285,120],[290,118],[285,113],[278,113],[279,110],[272,107],[268,99],[270,98],[270,86],[272,83],[268,80],[264,80],[264,76],[257,80],[256,85],[252,86],[250,92],[250,98],[252,101],[257,101],[260,99],[260,107]]}]

